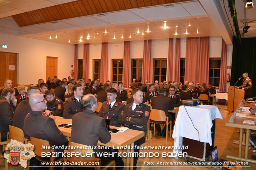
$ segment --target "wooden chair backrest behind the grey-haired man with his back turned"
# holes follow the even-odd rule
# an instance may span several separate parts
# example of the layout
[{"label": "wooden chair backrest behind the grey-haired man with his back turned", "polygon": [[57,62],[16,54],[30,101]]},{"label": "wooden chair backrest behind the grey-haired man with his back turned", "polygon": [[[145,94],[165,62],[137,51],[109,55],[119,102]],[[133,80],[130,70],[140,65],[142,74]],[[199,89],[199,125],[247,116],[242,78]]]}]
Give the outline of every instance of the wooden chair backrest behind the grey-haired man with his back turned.
[{"label": "wooden chair backrest behind the grey-haired man with his back turned", "polygon": [[[66,160],[69,162],[99,162],[99,158],[95,158],[94,151],[92,149],[88,149],[87,145],[77,144],[75,142],[69,142],[69,149],[67,152],[80,152],[80,153],[91,153],[90,156],[92,157],[66,157]],[[82,147],[82,149],[80,149]],[[78,149],[70,149],[70,148],[78,148]],[[87,163],[88,164],[88,163]],[[88,164],[89,165],[89,164]],[[87,166],[88,167],[88,166]],[[90,166],[89,166],[90,167]]]}]

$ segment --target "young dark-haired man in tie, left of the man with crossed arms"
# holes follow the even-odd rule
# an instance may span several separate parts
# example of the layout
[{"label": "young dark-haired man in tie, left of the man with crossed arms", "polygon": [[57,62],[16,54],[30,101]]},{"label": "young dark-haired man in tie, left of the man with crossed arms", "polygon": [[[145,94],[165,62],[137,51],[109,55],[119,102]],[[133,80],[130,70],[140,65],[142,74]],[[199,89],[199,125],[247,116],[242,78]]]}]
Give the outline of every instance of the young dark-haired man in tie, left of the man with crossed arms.
[{"label": "young dark-haired man in tie, left of the man with crossed arms", "polygon": [[115,97],[117,96],[117,91],[114,88],[109,88],[107,91],[107,101],[102,103],[98,116],[100,117],[110,117],[110,125],[121,126],[122,113],[124,112],[124,104],[122,102],[117,102]]}]

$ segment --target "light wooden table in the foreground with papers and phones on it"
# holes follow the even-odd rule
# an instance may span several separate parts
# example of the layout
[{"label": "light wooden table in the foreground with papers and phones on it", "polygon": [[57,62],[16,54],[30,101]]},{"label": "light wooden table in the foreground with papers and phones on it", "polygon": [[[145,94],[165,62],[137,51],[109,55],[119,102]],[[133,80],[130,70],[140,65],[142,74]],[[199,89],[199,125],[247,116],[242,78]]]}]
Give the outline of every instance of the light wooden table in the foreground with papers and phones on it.
[{"label": "light wooden table in the foreground with papers and phones on it", "polygon": [[[64,119],[60,116],[55,116],[55,123],[56,125],[60,124],[72,124],[72,119]],[[60,131],[67,137],[71,137],[71,128],[64,128],[64,127],[58,127]],[[118,129],[119,127],[110,126],[110,128]],[[124,146],[131,146],[134,147],[134,142],[138,139],[141,139],[144,137],[144,132],[139,130],[132,130],[128,129],[123,133],[114,134],[111,133],[111,140],[107,144],[102,144],[100,141],[98,141],[99,145],[108,146],[108,147],[124,147]],[[134,149],[127,149],[126,152],[134,152]],[[133,157],[126,158],[126,167],[130,167],[130,169],[133,169]]]}]

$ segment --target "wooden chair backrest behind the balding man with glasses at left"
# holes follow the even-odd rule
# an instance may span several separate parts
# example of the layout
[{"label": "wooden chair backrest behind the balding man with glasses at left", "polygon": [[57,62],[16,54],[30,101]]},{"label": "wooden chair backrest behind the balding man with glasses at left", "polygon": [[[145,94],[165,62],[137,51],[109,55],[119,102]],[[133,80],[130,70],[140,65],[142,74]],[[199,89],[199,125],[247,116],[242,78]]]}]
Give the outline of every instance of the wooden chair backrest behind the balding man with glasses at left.
[{"label": "wooden chair backrest behind the balding man with glasses at left", "polygon": [[35,155],[41,157],[42,152],[54,152],[53,149],[42,149],[42,145],[50,146],[49,142],[47,140],[38,139],[35,137],[30,137],[30,143],[34,145],[35,149]]}]

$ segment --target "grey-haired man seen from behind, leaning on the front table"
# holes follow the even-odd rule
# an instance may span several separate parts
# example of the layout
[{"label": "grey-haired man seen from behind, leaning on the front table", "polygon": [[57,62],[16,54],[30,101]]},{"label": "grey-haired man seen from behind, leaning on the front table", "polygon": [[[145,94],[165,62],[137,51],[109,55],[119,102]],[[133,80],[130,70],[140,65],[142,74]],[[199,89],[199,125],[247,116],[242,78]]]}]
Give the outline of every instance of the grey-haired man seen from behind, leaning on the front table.
[{"label": "grey-haired man seen from behind, leaning on the front table", "polygon": [[[110,141],[111,135],[107,131],[107,128],[102,117],[94,114],[97,109],[97,99],[92,94],[87,94],[82,98],[82,106],[84,111],[75,114],[72,117],[72,130],[71,130],[71,142],[87,145],[90,147],[97,146],[98,140],[103,144]],[[94,152],[117,152],[117,149],[93,149]],[[97,154],[94,154],[97,157]],[[99,157],[100,163],[104,164],[109,160],[115,160],[115,166],[117,169],[124,168],[124,162],[121,157]]]}]

